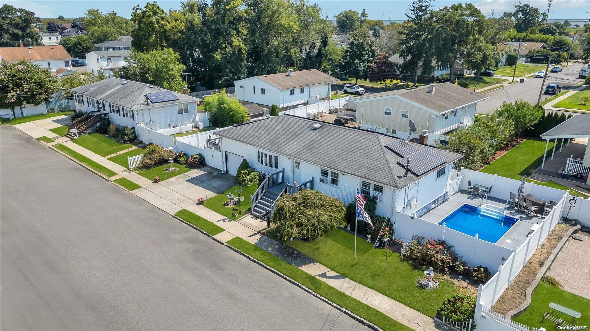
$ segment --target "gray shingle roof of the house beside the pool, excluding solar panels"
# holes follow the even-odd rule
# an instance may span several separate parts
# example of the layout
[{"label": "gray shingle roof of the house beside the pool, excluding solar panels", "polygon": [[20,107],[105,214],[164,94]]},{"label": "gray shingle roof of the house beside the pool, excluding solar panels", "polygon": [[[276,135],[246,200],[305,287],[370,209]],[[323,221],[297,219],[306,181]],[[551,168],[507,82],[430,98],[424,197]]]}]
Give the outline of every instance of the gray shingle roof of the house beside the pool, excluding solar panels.
[{"label": "gray shingle roof of the house beside the pool, excluding solar panels", "polygon": [[[322,126],[319,130],[312,130],[316,123]],[[403,177],[404,167],[396,163],[401,157],[384,147],[398,138],[291,115],[252,121],[220,130],[215,135],[397,188],[408,186],[442,167],[433,168],[419,177],[411,172],[408,177]],[[434,147],[411,144],[418,150],[435,150],[447,160],[445,164],[463,157]]]}]

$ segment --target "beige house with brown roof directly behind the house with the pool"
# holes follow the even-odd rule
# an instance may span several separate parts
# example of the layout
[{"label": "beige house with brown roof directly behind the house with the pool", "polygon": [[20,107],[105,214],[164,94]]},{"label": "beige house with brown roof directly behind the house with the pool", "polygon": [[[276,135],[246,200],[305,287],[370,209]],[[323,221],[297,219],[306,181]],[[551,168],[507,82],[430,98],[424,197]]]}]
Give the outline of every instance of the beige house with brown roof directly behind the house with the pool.
[{"label": "beige house with brown roof directly behind the house with the pool", "polygon": [[348,108],[356,110],[360,128],[408,138],[414,122],[417,133],[445,134],[474,123],[477,102],[488,97],[451,84],[431,84],[353,98]]}]

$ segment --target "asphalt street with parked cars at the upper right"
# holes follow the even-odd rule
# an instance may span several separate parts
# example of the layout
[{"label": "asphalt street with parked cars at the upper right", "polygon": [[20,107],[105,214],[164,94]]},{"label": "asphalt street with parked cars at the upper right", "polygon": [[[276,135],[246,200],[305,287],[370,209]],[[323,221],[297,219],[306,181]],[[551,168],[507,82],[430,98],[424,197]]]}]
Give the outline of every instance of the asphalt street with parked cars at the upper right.
[{"label": "asphalt street with parked cars at the upper right", "polygon": [[[578,72],[582,68],[581,63],[569,65],[569,67],[563,68],[562,72],[549,72],[545,85],[556,83],[562,87],[562,90],[570,90],[575,85],[584,82],[583,79],[578,78]],[[539,67],[539,70],[543,70],[545,67]],[[515,80],[517,78],[514,78]],[[486,101],[478,102],[476,112],[477,114],[488,114],[493,112],[494,108],[500,107],[502,102],[514,102],[515,100],[522,99],[529,101],[532,104],[536,104],[539,99],[539,90],[543,78],[526,78],[523,83],[514,83],[498,90],[494,90],[486,93],[486,97],[489,97]],[[543,94],[541,101],[545,100],[545,97],[552,97],[552,94]]]}]

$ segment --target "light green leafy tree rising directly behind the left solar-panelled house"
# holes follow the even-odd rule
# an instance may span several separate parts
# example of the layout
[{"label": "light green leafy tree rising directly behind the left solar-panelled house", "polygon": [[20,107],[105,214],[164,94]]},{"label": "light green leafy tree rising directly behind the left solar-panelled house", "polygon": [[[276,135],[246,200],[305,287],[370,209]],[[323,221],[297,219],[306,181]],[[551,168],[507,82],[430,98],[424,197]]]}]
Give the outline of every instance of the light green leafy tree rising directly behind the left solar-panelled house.
[{"label": "light green leafy tree rising directly behind the left solar-panelled house", "polygon": [[179,62],[180,55],[171,48],[157,51],[137,52],[130,55],[131,65],[123,67],[117,75],[133,81],[153,84],[167,90],[182,92],[185,83],[181,73],[185,66]]}]

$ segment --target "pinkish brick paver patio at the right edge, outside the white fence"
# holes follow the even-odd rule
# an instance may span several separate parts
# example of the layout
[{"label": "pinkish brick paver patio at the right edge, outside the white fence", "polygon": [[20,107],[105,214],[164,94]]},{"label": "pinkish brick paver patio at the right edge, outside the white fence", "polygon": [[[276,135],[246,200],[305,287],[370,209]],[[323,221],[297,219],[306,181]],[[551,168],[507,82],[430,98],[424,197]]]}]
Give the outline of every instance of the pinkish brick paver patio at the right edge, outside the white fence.
[{"label": "pinkish brick paver patio at the right edge, outside the white fence", "polygon": [[590,236],[582,237],[568,239],[547,274],[559,280],[563,290],[590,299]]}]

